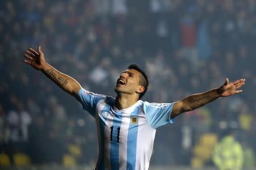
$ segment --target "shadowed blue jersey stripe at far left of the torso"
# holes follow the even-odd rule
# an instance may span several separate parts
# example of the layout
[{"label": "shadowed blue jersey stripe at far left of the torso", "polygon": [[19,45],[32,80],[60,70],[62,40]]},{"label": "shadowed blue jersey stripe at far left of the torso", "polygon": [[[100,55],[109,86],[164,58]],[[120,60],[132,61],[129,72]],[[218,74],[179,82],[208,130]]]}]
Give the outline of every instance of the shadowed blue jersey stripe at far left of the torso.
[{"label": "shadowed blue jersey stripe at far left of the torso", "polygon": [[[106,112],[106,111],[109,111],[110,110],[110,105],[111,105],[111,103],[110,103],[110,101],[108,100],[108,99],[106,99],[106,105],[105,105],[105,107],[102,109],[102,111],[101,111],[101,113],[104,113],[104,112]],[[99,150],[100,150],[100,155],[101,155],[101,158],[99,158],[99,160],[100,160],[100,162],[99,162],[99,164],[97,165],[97,167],[98,167],[98,169],[102,169],[102,170],[104,170],[105,169],[105,158],[104,158],[104,156],[105,156],[105,138],[104,138],[104,131],[105,131],[105,122],[106,122],[106,117],[108,117],[109,116],[109,112],[106,112],[107,114],[106,114],[106,116],[104,117],[104,116],[101,116],[101,114],[99,114],[99,122],[98,122],[98,124],[100,124],[100,135],[101,135],[101,137],[100,137],[100,147],[101,148],[99,148]]]}]

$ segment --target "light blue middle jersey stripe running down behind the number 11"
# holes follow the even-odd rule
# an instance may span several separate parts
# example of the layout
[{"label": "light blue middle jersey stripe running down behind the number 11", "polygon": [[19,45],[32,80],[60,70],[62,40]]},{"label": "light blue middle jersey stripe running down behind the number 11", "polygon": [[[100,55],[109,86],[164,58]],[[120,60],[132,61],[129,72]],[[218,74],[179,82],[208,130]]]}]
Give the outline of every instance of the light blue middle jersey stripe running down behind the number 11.
[{"label": "light blue middle jersey stripe running down behind the number 11", "polygon": [[122,113],[121,112],[114,113],[112,141],[110,141],[110,160],[111,160],[112,170],[119,169],[118,128],[121,127],[121,123],[122,123]]}]

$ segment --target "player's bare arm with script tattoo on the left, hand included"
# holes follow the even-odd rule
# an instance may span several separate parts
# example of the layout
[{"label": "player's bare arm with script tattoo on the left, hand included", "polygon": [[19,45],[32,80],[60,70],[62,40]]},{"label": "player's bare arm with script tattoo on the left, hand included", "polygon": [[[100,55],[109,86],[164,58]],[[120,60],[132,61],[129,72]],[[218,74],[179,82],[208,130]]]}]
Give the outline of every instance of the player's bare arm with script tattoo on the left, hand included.
[{"label": "player's bare arm with script tattoo on the left, hand included", "polygon": [[31,65],[36,70],[42,71],[57,86],[77,98],[78,92],[81,89],[80,84],[71,76],[63,74],[49,65],[44,59],[44,53],[40,46],[38,52],[32,48],[26,50],[24,57],[26,58],[24,59],[24,63]]}]

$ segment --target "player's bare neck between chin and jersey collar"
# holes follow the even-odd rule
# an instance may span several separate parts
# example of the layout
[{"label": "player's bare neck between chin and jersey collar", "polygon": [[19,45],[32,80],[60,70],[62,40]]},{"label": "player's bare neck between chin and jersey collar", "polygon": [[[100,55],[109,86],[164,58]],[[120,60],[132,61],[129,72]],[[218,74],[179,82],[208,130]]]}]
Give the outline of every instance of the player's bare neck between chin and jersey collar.
[{"label": "player's bare neck between chin and jersey collar", "polygon": [[138,101],[137,96],[117,95],[115,98],[115,107],[119,110],[126,109],[134,105]]}]

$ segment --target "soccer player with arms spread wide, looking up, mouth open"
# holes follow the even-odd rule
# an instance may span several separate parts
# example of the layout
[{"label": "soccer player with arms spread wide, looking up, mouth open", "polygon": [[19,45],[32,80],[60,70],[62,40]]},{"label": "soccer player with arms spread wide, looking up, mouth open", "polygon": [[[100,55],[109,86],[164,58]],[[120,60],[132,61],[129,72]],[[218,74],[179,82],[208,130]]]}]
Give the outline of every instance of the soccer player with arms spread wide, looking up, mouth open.
[{"label": "soccer player with arms spread wide, looking up, mouth open", "polygon": [[172,123],[179,114],[199,108],[218,97],[239,94],[245,79],[185,97],[174,103],[148,103],[140,100],[148,87],[147,76],[137,65],[123,71],[115,86],[117,96],[86,91],[68,75],[49,65],[42,49],[26,50],[24,63],[40,70],[64,91],[80,101],[96,120],[99,155],[96,169],[148,169],[159,126]]}]

